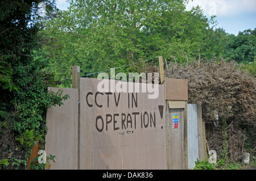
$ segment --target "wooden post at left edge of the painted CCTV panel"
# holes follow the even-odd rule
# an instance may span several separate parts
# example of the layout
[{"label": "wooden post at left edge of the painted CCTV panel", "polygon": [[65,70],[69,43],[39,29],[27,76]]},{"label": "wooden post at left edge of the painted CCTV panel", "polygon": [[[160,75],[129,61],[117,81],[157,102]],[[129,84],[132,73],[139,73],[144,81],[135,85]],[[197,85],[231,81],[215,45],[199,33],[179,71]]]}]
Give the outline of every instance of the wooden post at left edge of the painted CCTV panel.
[{"label": "wooden post at left edge of the painted CCTV panel", "polygon": [[80,170],[80,66],[73,66],[72,67],[72,87],[73,89],[78,89],[78,113],[77,113],[77,140],[78,140],[78,144],[77,144],[77,157],[78,157],[78,165],[77,165],[77,169]]}]

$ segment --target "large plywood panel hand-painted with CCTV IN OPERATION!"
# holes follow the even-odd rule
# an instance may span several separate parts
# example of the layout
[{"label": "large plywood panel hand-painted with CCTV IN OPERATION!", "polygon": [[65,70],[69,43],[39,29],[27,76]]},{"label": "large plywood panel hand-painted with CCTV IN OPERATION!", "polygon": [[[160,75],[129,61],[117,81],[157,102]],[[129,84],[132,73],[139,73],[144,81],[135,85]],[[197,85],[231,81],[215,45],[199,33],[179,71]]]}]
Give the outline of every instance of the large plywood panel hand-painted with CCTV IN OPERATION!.
[{"label": "large plywood panel hand-painted with CCTV IN OPERATION!", "polygon": [[80,169],[167,169],[164,86],[148,99],[142,91],[101,92],[101,81],[80,78]]}]

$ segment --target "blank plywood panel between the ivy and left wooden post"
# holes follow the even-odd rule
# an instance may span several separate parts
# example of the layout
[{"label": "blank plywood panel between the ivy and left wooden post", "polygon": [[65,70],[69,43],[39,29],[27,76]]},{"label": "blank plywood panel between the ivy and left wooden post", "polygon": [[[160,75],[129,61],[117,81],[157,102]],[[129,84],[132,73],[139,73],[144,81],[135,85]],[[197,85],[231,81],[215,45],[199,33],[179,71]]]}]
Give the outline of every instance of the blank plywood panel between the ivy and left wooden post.
[{"label": "blank plywood panel between the ivy and left wooden post", "polygon": [[48,87],[49,91],[63,90],[69,99],[61,106],[47,110],[46,154],[56,155],[51,169],[77,169],[77,111],[78,90]]}]

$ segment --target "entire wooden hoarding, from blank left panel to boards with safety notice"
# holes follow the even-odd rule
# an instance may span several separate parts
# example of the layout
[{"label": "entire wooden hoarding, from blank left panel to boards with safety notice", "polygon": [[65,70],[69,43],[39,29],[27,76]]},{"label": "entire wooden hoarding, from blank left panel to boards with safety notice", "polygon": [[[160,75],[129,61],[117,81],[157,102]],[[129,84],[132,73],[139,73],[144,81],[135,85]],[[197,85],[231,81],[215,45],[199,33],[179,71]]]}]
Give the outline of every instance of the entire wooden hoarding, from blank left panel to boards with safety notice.
[{"label": "entire wooden hoarding, from blank left panel to boards with safety notice", "polygon": [[73,76],[77,89],[49,87],[70,96],[47,111],[51,169],[187,168],[187,80],[123,82],[120,92],[119,81],[79,78],[77,67]]}]

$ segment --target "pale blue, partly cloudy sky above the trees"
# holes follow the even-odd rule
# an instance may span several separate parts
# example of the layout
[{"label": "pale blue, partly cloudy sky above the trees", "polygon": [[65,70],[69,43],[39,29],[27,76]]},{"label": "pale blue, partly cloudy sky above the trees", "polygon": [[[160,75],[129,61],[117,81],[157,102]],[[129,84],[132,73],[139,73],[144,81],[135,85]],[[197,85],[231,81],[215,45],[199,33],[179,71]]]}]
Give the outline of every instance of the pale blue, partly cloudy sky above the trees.
[{"label": "pale blue, partly cloudy sky above the trees", "polygon": [[[121,0],[120,0],[121,1]],[[57,8],[67,10],[66,0],[56,0]],[[217,28],[238,35],[244,30],[256,28],[256,0],[189,0],[187,10],[199,5],[208,18],[216,15]]]}]

